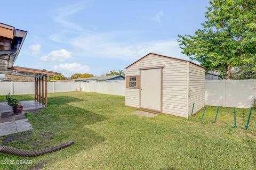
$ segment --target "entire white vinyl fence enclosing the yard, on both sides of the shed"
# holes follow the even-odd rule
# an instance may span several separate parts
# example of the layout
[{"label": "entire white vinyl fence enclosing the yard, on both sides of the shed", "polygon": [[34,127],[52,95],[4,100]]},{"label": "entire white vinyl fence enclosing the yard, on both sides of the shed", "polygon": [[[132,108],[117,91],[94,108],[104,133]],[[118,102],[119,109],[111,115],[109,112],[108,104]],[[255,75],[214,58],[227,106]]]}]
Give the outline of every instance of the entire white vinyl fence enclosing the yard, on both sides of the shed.
[{"label": "entire white vinyl fence enclosing the yard, on both sides of the shed", "polygon": [[[125,96],[125,81],[49,82],[48,92],[86,91]],[[0,95],[34,94],[34,82],[0,82]],[[205,104],[249,108],[256,95],[256,80],[205,81]]]}]

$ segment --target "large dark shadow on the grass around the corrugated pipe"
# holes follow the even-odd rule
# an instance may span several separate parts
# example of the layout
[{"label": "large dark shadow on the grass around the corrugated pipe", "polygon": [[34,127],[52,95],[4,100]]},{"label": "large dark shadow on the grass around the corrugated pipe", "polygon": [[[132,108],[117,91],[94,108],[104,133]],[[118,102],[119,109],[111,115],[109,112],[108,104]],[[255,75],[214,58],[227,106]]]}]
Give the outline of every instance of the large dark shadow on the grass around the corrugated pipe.
[{"label": "large dark shadow on the grass around the corrugated pipe", "polygon": [[[69,149],[63,149],[58,154],[72,156],[77,150],[84,151],[99,145],[104,137],[86,127],[87,125],[105,121],[108,118],[86,109],[68,105],[71,102],[86,101],[70,96],[49,97],[49,107],[38,114],[27,114],[34,130],[10,134],[0,137],[2,145],[19,149],[35,150],[58,145],[67,141],[75,141]],[[86,103],[83,103],[86,104]],[[58,156],[49,154],[56,159]],[[47,155],[48,156],[48,155]],[[21,157],[0,154],[0,159],[19,160]],[[36,158],[22,158],[36,159]],[[43,158],[46,159],[46,158]],[[17,165],[11,165],[14,168]],[[36,165],[34,165],[36,166]]]}]

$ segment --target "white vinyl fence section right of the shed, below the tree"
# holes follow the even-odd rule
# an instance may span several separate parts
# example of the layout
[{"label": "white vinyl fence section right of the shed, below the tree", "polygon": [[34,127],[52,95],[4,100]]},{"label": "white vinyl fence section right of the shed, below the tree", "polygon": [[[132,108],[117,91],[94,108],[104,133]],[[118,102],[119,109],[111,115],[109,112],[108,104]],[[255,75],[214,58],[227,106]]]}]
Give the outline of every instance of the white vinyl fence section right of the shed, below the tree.
[{"label": "white vinyl fence section right of the shed, below the tree", "polygon": [[256,95],[256,80],[205,81],[205,104],[249,108]]}]

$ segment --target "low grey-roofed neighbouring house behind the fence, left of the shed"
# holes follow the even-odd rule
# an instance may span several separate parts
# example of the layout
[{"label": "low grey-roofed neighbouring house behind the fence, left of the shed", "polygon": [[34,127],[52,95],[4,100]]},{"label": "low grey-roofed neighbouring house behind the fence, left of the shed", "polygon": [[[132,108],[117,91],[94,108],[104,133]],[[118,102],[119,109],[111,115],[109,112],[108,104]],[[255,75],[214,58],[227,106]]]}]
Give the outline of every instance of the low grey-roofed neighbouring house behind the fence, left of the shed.
[{"label": "low grey-roofed neighbouring house behind the fence, left of the shed", "polygon": [[92,78],[78,78],[75,81],[124,81],[125,77],[123,75],[103,75],[99,77]]}]

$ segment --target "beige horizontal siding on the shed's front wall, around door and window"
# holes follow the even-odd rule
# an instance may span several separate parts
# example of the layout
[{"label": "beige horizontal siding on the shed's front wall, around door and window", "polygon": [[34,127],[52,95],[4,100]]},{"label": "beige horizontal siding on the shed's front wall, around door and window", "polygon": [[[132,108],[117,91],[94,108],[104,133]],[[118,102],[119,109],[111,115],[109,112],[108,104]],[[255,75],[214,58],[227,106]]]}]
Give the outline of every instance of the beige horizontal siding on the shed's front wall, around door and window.
[{"label": "beige horizontal siding on the shed's front wall, around door and window", "polygon": [[[187,62],[150,54],[126,69],[127,76],[140,75],[138,69],[163,68],[163,110],[165,114],[187,117]],[[154,80],[152,80],[154,81]],[[126,106],[139,107],[139,89],[126,88]]]}]

